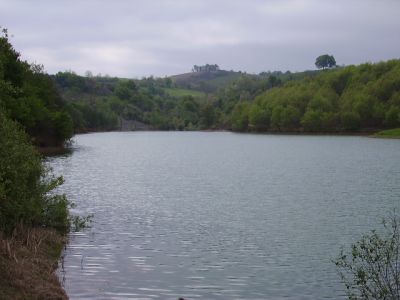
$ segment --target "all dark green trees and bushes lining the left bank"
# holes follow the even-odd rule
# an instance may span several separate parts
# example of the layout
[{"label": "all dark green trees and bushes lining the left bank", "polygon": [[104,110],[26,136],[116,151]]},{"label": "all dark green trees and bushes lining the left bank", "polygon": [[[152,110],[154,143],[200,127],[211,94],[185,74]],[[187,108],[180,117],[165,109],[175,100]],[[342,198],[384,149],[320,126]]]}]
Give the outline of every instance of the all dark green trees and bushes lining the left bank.
[{"label": "all dark green trees and bushes lining the left bank", "polygon": [[72,119],[53,80],[42,66],[22,61],[2,30],[0,236],[17,227],[69,229],[69,202],[53,191],[62,178],[51,175],[35,146],[61,146],[72,134]]}]

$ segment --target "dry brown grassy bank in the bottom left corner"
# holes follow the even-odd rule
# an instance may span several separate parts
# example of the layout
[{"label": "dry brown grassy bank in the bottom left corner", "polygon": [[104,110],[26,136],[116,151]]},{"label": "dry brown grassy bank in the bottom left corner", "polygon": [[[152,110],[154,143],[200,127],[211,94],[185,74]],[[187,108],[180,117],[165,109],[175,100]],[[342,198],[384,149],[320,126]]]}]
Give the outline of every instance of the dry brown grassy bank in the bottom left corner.
[{"label": "dry brown grassy bank in the bottom left corner", "polygon": [[0,299],[68,299],[54,273],[65,241],[53,229],[0,232]]}]

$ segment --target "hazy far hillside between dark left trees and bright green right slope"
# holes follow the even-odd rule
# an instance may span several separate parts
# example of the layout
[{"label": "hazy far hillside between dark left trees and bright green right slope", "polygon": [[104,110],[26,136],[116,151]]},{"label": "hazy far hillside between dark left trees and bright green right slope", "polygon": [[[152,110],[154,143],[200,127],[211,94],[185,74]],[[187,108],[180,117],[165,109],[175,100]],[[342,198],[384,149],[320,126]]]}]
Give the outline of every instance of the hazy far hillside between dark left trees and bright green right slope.
[{"label": "hazy far hillside between dark left trees and bright green right slope", "polygon": [[199,130],[229,129],[230,113],[238,101],[250,101],[272,87],[311,74],[217,70],[133,80],[70,71],[53,79],[68,102],[75,132],[119,130],[129,122],[142,124],[142,129]]}]

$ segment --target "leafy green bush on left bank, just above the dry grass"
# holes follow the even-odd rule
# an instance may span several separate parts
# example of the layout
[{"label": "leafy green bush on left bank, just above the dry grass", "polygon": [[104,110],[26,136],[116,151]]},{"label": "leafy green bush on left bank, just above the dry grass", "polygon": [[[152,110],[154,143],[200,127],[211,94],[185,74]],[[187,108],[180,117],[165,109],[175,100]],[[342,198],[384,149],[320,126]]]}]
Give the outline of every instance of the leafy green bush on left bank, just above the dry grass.
[{"label": "leafy green bush on left bank, just above the dry grass", "polygon": [[68,201],[54,194],[62,178],[51,176],[20,125],[0,113],[0,229],[18,224],[69,227]]}]

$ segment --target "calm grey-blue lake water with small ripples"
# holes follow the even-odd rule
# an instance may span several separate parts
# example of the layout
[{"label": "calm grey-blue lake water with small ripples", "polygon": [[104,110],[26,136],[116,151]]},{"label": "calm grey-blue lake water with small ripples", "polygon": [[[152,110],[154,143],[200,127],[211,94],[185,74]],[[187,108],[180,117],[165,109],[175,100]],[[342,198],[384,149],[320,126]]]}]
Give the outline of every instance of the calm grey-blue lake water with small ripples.
[{"label": "calm grey-blue lake water with small ripples", "polygon": [[94,214],[71,299],[338,299],[335,258],[400,209],[400,140],[131,132],[49,159]]}]

